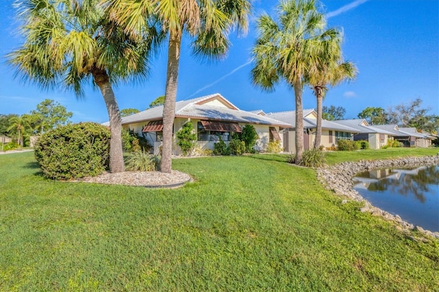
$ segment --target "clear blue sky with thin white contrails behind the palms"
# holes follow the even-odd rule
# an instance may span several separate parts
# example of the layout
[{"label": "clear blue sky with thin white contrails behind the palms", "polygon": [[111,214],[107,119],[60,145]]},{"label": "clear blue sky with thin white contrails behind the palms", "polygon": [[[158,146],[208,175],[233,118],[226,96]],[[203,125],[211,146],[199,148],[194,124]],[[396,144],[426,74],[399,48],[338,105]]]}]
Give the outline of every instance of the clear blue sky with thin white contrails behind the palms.
[{"label": "clear blue sky with thin white contrails behind the palms", "polygon": [[[72,121],[108,121],[102,95],[86,89],[85,99],[71,93],[41,90],[14,79],[5,54],[20,45],[16,34],[13,0],[0,2],[0,114],[24,114],[44,99],[54,99],[73,112]],[[221,93],[242,110],[277,112],[294,110],[294,93],[279,85],[265,93],[250,83],[250,51],[254,19],[265,10],[274,14],[277,1],[254,1],[254,15],[246,36],[230,34],[233,47],[219,62],[193,58],[189,40],[182,44],[177,100]],[[439,1],[437,0],[326,0],[328,26],[344,32],[345,60],[357,64],[354,82],[331,88],[324,106],[343,106],[346,119],[368,106],[388,109],[420,98],[423,107],[439,114]],[[119,108],[144,110],[165,93],[166,47],[153,60],[152,75],[138,84],[119,84],[115,94]],[[305,88],[304,108],[315,108],[311,90]]]}]

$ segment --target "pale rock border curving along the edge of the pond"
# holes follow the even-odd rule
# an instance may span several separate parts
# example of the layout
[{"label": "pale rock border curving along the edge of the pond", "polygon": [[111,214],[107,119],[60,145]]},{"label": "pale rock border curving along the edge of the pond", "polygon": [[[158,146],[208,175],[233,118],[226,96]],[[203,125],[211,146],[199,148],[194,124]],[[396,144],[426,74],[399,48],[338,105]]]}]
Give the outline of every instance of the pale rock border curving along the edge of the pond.
[{"label": "pale rock border curving along the edge of the pond", "polygon": [[[359,160],[357,162],[342,162],[332,167],[320,167],[317,171],[317,178],[327,189],[343,195],[356,202],[364,202],[361,212],[370,212],[372,215],[382,216],[385,219],[399,223],[402,230],[418,230],[429,236],[439,239],[439,232],[431,232],[424,230],[420,226],[414,226],[389,212],[372,206],[364,197],[353,189],[354,183],[352,178],[360,172],[369,171],[371,169],[382,169],[389,167],[417,167],[422,165],[439,165],[439,154],[436,156],[420,156],[420,157],[403,157],[388,160]],[[347,202],[343,200],[343,202]]]}]

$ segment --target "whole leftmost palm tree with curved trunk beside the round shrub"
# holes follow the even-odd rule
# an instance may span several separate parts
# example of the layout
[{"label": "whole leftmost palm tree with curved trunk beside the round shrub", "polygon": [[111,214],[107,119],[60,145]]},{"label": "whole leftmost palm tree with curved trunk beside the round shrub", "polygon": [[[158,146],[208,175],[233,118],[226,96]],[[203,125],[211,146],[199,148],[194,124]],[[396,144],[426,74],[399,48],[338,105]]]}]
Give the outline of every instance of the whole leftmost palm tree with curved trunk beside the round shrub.
[{"label": "whole leftmost palm tree with curved trunk beside the round shrub", "polygon": [[61,85],[77,97],[84,97],[87,82],[97,86],[110,121],[110,171],[123,171],[121,116],[112,84],[148,73],[154,27],[150,38],[130,38],[108,21],[101,0],[21,0],[16,8],[25,38],[8,55],[16,74],[47,89]]}]

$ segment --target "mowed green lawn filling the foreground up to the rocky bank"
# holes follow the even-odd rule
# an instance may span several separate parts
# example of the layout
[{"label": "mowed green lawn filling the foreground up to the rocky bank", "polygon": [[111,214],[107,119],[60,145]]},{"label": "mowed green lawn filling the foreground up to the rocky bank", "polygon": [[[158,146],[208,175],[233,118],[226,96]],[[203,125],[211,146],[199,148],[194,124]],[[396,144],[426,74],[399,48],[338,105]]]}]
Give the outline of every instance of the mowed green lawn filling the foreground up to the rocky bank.
[{"label": "mowed green lawn filling the foreground up to the rocky bank", "polygon": [[174,160],[195,182],[151,190],[52,182],[32,153],[2,155],[0,291],[438,289],[438,240],[342,204],[284,158]]}]

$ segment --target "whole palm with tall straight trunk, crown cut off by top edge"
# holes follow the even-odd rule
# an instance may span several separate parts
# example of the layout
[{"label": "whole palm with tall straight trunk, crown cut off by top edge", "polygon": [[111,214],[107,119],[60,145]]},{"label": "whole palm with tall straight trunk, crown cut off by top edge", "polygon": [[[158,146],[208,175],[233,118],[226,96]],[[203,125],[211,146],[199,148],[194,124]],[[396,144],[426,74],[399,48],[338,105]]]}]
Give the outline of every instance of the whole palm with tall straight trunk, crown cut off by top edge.
[{"label": "whole palm with tall straight trunk, crown cut off by top edge", "polygon": [[233,27],[246,32],[249,0],[113,0],[110,15],[139,35],[147,19],[156,18],[168,34],[165,104],[163,106],[163,148],[161,171],[171,172],[172,127],[175,118],[178,66],[182,35],[193,37],[196,56],[220,58],[230,47],[228,33]]}]

